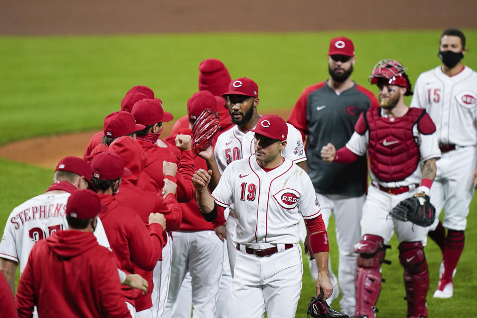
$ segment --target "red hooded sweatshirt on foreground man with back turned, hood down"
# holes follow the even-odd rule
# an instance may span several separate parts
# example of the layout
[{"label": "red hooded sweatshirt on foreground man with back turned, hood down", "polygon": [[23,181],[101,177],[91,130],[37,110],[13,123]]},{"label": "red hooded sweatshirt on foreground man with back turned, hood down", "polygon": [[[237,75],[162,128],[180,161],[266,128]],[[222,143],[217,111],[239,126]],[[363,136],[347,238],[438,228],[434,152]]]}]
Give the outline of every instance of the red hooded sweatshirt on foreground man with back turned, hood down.
[{"label": "red hooded sweatshirt on foreground man with back turned, hood down", "polygon": [[92,233],[58,231],[32,248],[20,277],[19,317],[131,317],[116,259]]}]

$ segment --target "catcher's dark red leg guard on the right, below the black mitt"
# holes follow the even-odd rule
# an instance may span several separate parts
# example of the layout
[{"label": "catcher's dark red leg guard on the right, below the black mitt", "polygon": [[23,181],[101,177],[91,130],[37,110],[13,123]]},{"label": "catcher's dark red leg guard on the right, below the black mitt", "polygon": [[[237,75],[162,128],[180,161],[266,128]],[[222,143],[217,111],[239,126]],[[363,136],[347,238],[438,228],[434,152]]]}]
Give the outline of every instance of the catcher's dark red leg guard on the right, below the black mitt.
[{"label": "catcher's dark red leg guard on the right, below the black mitt", "polygon": [[407,317],[427,317],[426,295],[429,290],[429,271],[421,242],[399,244],[399,262],[404,267]]}]

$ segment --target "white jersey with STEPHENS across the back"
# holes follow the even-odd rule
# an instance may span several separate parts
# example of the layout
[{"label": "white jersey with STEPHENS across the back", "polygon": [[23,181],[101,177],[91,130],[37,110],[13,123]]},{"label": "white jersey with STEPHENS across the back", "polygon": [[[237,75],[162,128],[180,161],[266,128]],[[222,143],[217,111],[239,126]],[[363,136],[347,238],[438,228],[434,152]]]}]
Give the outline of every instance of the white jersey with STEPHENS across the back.
[{"label": "white jersey with STEPHENS across the back", "polygon": [[[0,257],[20,263],[20,275],[33,245],[59,230],[68,230],[66,204],[70,193],[40,194],[13,209],[0,242]],[[110,248],[101,220],[94,236],[101,246]]]}]

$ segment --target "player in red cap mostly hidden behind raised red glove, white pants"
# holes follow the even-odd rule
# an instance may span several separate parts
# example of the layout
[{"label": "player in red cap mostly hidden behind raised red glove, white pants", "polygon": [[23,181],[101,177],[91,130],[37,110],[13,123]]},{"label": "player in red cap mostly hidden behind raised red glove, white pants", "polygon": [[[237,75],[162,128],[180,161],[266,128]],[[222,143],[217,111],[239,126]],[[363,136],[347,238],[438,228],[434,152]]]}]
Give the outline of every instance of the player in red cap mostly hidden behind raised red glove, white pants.
[{"label": "player in red cap mostly hidden behind raised red glove, white pants", "polygon": [[[211,92],[204,90],[194,93],[187,101],[189,128],[180,129],[178,133],[192,136],[191,128],[199,115],[206,109],[215,113],[217,106],[216,97]],[[167,139],[175,138],[172,135]],[[207,169],[206,161],[198,155],[194,155],[194,165],[195,170]],[[176,317],[177,310],[182,311],[180,307],[185,307],[184,311],[188,311],[190,317],[191,308],[177,299],[187,273],[190,273],[192,282],[192,291],[189,293],[189,297],[192,295],[192,316],[214,317],[221,271],[203,269],[204,264],[222,268],[224,243],[215,235],[212,224],[204,220],[195,200],[181,203],[180,206],[183,217],[179,230],[173,233],[169,295],[163,317]]]}]

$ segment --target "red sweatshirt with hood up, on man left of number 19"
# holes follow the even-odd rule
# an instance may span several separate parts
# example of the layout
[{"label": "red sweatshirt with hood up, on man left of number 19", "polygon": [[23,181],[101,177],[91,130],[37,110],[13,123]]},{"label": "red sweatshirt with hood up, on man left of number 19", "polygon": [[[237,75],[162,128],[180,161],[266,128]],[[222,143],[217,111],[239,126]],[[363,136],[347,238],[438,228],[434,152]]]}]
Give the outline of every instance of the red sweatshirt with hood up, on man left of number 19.
[{"label": "red sweatshirt with hood up, on man left of number 19", "polygon": [[[179,229],[182,221],[182,212],[172,193],[165,199],[157,192],[145,191],[137,184],[141,175],[141,170],[147,156],[141,146],[131,137],[120,137],[109,145],[110,152],[116,153],[124,159],[125,167],[131,170],[131,175],[123,177],[119,191],[116,193],[116,201],[122,206],[136,211],[143,223],[149,228],[149,214],[160,212],[166,219],[166,228],[169,231]],[[167,234],[163,232],[163,246],[167,242]],[[162,247],[163,247],[162,246]],[[162,260],[162,257],[160,259]],[[142,311],[153,306],[151,293],[153,289],[153,271],[136,271],[149,282],[148,293],[136,298],[136,311]]]}]

